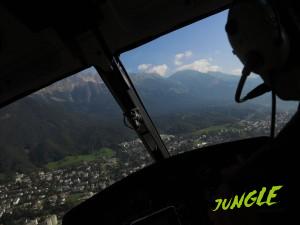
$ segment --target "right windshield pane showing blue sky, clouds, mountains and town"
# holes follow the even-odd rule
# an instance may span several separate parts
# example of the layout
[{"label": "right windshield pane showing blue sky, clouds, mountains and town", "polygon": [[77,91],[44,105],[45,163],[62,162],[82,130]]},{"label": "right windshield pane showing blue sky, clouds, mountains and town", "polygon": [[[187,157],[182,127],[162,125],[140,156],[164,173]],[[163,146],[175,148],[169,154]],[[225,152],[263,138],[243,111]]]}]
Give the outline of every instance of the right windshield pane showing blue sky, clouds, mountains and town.
[{"label": "right windshield pane showing blue sky, clouds, mountains and town", "polygon": [[[121,55],[172,154],[270,134],[271,96],[237,104],[242,64],[232,53],[228,11],[203,19]],[[251,75],[245,93],[261,84]],[[277,132],[295,103],[278,101]]]}]

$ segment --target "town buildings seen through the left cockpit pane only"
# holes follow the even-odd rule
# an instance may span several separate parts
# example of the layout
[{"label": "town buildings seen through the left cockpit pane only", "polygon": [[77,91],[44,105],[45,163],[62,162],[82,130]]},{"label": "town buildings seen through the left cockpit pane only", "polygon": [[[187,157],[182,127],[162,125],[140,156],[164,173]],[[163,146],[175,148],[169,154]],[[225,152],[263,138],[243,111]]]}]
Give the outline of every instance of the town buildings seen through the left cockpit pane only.
[{"label": "town buildings seen through the left cockpit pane only", "polygon": [[[70,168],[16,173],[12,181],[0,185],[0,225],[37,225],[45,221],[47,225],[60,224],[66,211],[142,169],[149,163],[148,158],[135,158],[138,165],[110,158]],[[48,219],[51,215],[57,216],[57,223]]]}]

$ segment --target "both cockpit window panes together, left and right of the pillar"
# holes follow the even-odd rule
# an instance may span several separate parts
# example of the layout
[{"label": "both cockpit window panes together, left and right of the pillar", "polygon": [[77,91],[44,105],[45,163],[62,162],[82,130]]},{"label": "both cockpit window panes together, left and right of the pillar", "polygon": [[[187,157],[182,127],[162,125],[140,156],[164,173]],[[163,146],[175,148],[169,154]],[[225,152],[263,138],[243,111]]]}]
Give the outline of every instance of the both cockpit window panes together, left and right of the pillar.
[{"label": "both cockpit window panes together, left and right of the pillar", "polygon": [[[237,104],[242,65],[227,11],[121,55],[172,155],[269,135],[271,97]],[[261,80],[253,75],[246,90]],[[295,111],[278,104],[278,130]],[[59,224],[75,205],[153,163],[94,68],[0,109],[0,224]],[[127,124],[128,125],[128,124]]]}]

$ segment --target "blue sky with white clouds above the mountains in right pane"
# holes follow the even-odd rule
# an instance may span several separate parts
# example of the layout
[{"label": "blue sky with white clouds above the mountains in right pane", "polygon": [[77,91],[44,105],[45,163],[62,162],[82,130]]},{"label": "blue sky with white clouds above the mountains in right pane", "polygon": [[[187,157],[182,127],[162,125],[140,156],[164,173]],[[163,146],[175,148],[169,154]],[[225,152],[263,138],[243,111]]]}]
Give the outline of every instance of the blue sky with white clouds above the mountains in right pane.
[{"label": "blue sky with white clouds above the mountains in right pane", "polygon": [[225,23],[228,11],[193,23],[121,55],[129,73],[168,76],[178,70],[240,74],[242,64],[232,54]]}]

